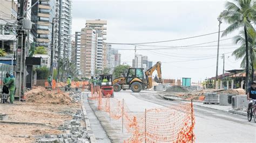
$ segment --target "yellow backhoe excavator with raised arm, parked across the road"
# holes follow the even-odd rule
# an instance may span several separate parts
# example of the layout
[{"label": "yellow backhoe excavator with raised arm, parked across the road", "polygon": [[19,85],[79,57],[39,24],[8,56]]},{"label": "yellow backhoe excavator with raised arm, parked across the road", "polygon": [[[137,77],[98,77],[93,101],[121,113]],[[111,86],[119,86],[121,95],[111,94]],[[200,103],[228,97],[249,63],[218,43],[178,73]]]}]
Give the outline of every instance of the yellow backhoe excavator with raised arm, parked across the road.
[{"label": "yellow backhoe excavator with raised arm, parked across the road", "polygon": [[163,83],[160,61],[145,71],[145,78],[143,70],[143,68],[129,68],[124,77],[114,78],[112,82],[114,91],[131,89],[133,92],[140,92],[141,90],[152,88],[152,74],[155,70],[157,70],[158,77],[155,76],[154,81]]}]

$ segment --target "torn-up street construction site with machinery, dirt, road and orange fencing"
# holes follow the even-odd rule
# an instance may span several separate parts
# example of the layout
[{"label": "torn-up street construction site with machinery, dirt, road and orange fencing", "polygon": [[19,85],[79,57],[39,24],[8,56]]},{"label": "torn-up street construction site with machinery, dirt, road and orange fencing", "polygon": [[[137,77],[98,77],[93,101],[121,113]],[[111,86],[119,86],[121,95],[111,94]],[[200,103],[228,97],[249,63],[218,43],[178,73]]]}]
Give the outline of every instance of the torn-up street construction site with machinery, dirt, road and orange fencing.
[{"label": "torn-up street construction site with machinery, dirt, road and orange fencing", "polygon": [[[3,142],[254,140],[244,138],[246,130],[235,130],[256,125],[246,121],[244,89],[164,84],[161,62],[145,72],[129,68],[122,77],[102,74],[90,82],[72,81],[70,87],[45,82],[24,96],[24,102],[0,104]],[[229,138],[227,132],[240,138]]]}]

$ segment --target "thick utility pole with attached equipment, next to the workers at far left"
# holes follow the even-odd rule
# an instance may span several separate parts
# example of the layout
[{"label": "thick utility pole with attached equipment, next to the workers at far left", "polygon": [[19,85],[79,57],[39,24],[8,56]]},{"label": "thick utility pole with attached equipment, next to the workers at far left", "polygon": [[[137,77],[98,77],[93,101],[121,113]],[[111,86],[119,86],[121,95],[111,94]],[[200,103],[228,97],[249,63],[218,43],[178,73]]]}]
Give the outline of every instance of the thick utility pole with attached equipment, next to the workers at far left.
[{"label": "thick utility pole with attached equipment, next to the workers at far left", "polygon": [[25,71],[25,41],[26,41],[26,33],[23,29],[23,20],[24,20],[24,4],[25,0],[18,0],[18,41],[17,41],[17,51],[16,51],[16,92],[15,96],[19,97],[19,101],[21,101],[21,97],[24,96],[24,71]]}]

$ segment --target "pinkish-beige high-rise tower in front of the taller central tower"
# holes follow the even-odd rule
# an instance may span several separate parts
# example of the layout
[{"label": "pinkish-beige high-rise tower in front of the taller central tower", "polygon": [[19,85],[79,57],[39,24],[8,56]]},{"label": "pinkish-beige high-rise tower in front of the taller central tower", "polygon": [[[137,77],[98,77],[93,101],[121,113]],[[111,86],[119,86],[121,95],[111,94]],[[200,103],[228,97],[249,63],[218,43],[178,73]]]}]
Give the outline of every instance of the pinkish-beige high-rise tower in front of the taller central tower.
[{"label": "pinkish-beige high-rise tower in front of the taller central tower", "polygon": [[80,70],[82,77],[90,78],[95,74],[97,54],[97,34],[92,27],[81,30]]}]

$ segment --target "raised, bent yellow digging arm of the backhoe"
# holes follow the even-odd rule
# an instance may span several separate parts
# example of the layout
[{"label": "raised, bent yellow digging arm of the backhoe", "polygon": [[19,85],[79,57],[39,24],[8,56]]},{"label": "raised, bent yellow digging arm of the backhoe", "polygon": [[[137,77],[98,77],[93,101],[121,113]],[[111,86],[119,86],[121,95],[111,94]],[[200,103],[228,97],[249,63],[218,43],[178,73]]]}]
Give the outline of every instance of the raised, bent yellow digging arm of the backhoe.
[{"label": "raised, bent yellow digging arm of the backhoe", "polygon": [[157,75],[158,78],[156,76],[154,81],[156,81],[157,83],[163,83],[162,73],[161,73],[161,62],[158,61],[154,66],[152,66],[150,69],[145,71],[145,76],[146,76],[146,80],[147,80],[147,83],[146,83],[147,89],[152,88],[152,74],[153,74],[154,70],[157,70],[157,74],[158,74]]}]

